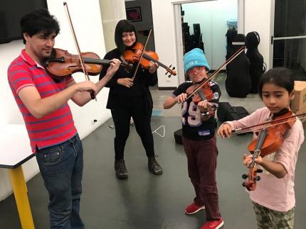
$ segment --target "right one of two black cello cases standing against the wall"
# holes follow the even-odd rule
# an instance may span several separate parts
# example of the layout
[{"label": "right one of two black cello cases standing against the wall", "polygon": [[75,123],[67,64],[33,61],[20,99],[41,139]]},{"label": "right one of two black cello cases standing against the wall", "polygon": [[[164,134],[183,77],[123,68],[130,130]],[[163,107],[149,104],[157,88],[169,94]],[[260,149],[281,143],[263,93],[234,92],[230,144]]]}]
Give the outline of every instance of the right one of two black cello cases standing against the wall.
[{"label": "right one of two black cello cases standing against the wall", "polygon": [[256,94],[258,92],[258,82],[266,69],[265,62],[263,62],[263,55],[258,51],[258,44],[260,43],[259,34],[255,31],[246,35],[246,56],[250,60],[250,93]]}]

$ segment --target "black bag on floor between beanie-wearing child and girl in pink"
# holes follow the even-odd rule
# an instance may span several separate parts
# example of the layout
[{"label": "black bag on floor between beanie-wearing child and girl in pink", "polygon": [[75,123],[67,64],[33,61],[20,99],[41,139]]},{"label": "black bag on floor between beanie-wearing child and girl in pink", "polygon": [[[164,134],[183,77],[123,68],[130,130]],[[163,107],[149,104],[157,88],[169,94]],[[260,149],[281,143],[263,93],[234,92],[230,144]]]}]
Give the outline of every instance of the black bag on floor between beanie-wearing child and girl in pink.
[{"label": "black bag on floor between beanie-wearing child and girl in pink", "polygon": [[228,102],[218,104],[217,117],[221,123],[244,118],[250,115],[243,106],[231,106]]}]

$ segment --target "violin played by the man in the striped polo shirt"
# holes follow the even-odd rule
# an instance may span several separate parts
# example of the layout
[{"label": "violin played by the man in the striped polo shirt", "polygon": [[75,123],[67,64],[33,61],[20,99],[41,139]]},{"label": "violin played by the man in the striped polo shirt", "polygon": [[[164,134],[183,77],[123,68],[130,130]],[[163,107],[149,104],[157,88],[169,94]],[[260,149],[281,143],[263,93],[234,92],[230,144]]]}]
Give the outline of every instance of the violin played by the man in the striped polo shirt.
[{"label": "violin played by the man in the striped polo shirt", "polygon": [[[102,65],[109,65],[111,62],[111,60],[100,59],[94,52],[80,52],[80,55],[85,63],[86,71],[92,76],[101,72]],[[127,69],[130,67],[123,63],[121,65]],[[51,56],[44,63],[44,67],[53,79],[63,79],[75,72],[83,72],[80,57],[59,48],[53,48]]]}]

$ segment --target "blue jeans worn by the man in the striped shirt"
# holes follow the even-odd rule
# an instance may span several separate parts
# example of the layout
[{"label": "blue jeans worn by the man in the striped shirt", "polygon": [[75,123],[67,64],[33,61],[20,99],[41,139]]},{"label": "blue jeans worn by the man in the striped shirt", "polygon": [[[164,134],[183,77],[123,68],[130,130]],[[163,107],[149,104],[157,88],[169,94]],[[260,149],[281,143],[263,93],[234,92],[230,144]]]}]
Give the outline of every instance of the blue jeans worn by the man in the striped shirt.
[{"label": "blue jeans worn by the man in the striped shirt", "polygon": [[78,134],[65,143],[37,150],[36,160],[49,193],[51,229],[84,228],[79,215],[83,146]]}]

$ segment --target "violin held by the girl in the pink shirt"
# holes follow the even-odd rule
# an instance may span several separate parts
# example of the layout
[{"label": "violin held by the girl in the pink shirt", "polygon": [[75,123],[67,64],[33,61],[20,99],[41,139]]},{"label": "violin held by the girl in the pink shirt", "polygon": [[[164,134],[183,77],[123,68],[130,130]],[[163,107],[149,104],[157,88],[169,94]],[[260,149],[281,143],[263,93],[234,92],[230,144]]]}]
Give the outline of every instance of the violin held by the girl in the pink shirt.
[{"label": "violin held by the girl in the pink shirt", "polygon": [[296,118],[292,118],[292,111],[289,111],[287,108],[280,113],[274,114],[274,124],[260,130],[258,138],[253,139],[248,145],[248,150],[253,154],[252,162],[250,162],[248,174],[242,175],[243,179],[248,178],[248,180],[244,181],[242,184],[248,191],[254,191],[256,189],[256,181],[260,180],[257,173],[263,172],[262,169],[256,167],[255,159],[259,156],[265,157],[278,150],[283,145],[283,135],[287,130],[292,128],[295,121]]}]

